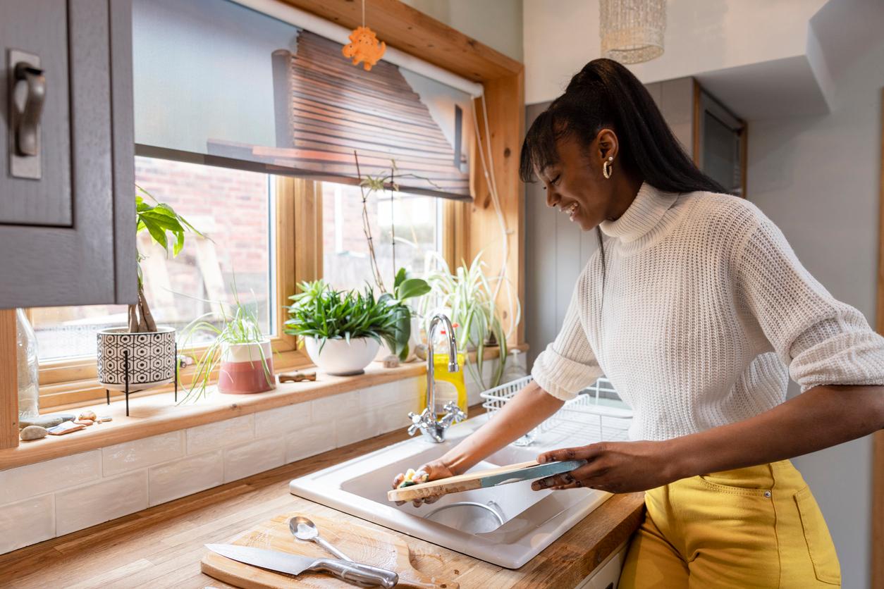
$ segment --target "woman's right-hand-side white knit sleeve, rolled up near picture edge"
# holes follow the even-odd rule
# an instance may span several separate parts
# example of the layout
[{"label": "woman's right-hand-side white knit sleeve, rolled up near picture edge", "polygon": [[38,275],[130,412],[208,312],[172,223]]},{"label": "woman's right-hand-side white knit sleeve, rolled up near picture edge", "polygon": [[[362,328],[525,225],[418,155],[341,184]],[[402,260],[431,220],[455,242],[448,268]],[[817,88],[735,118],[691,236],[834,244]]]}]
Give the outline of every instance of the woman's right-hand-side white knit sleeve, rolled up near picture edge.
[{"label": "woman's right-hand-side white knit sleeve, rolled up near picture edge", "polygon": [[738,266],[741,297],[802,392],[819,385],[884,385],[884,337],[835,299],[763,217]]}]

